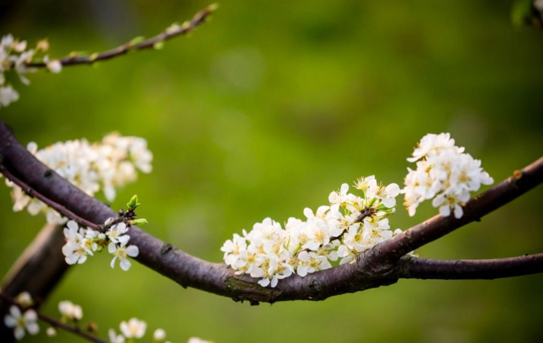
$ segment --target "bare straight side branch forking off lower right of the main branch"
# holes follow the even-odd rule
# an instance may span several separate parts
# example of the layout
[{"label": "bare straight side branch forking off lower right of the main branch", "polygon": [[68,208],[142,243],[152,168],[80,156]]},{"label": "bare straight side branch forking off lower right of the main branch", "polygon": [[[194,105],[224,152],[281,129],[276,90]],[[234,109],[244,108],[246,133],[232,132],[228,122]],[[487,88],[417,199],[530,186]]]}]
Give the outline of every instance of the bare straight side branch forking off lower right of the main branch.
[{"label": "bare straight side branch forking off lower right of the main branch", "polygon": [[405,279],[498,279],[543,273],[543,253],[488,260],[405,258],[396,276]]}]

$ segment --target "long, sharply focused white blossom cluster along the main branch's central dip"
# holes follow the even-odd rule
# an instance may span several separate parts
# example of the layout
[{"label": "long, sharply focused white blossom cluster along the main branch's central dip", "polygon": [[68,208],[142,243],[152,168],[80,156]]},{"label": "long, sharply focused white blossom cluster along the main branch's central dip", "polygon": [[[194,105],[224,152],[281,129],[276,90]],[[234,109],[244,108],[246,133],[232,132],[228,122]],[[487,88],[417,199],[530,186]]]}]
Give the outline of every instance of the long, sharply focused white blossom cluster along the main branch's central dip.
[{"label": "long, sharply focused white blossom cluster along the main branch's central dip", "polygon": [[355,188],[361,196],[349,193],[349,185],[343,184],[331,192],[328,205],[316,212],[306,208],[304,220],[291,217],[285,228],[266,218],[250,232],[234,234],[221,248],[225,263],[237,275],[249,274],[261,278],[261,286],[275,287],[294,273],[304,277],[329,269],[339,259],[340,264],[348,263],[401,232],[393,233],[387,218],[395,212],[397,184],[385,186],[370,176],[359,178]]}]

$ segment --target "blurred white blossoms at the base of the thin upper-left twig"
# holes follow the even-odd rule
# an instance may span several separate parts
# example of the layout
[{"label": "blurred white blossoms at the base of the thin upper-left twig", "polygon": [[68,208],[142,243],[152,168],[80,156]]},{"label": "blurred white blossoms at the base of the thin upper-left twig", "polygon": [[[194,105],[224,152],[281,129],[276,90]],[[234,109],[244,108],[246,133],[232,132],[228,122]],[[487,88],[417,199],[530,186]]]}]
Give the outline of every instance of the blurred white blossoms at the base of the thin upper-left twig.
[{"label": "blurred white blossoms at the base of the thin upper-left twig", "polygon": [[[47,40],[39,41],[31,49],[27,49],[27,45],[27,41],[16,39],[11,34],[0,38],[0,108],[19,99],[19,93],[7,82],[5,73],[13,70],[23,84],[30,84],[30,80],[24,75],[35,72],[36,69],[28,64],[37,54],[45,53],[49,48]],[[42,61],[50,72],[59,73],[62,70],[60,61],[50,60],[48,55],[43,56]]]}]

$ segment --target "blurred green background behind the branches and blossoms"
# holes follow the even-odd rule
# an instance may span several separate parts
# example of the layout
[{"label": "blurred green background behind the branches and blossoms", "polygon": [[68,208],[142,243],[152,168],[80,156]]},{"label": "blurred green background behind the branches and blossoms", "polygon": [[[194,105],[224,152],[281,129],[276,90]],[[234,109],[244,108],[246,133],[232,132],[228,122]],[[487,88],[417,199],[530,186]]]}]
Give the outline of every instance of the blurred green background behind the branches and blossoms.
[{"label": "blurred green background behind the branches and blossoms", "polygon": [[[202,1],[18,1],[0,31],[50,41],[50,55],[94,52],[190,18]],[[508,1],[225,1],[190,38],[94,67],[31,75],[0,116],[26,144],[143,136],[154,171],[137,193],[153,235],[220,261],[225,239],[271,216],[324,204],[343,182],[375,174],[401,183],[422,135],[451,132],[497,180],[543,153],[543,36],[515,29]],[[4,188],[4,186],[1,186]],[[496,258],[543,251],[543,189],[529,192],[420,251]],[[99,195],[103,199],[102,195]],[[12,213],[0,192],[0,273],[45,222]],[[399,208],[393,228],[415,217]],[[105,338],[132,316],[190,336],[244,342],[535,342],[543,335],[543,277],[401,280],[324,302],[251,307],[179,285],[106,253],[71,270],[45,306],[83,305]],[[48,342],[40,336],[29,342]],[[61,333],[56,342],[79,342]]]}]

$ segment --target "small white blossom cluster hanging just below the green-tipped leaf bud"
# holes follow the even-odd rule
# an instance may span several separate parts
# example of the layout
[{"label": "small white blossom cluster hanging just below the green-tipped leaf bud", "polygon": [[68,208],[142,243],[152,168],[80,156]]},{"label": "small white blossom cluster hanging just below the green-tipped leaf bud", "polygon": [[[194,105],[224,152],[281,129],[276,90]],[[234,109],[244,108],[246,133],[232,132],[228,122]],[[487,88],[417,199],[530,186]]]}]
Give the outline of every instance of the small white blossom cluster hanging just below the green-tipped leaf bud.
[{"label": "small white blossom cluster hanging just below the green-tipped leaf bud", "polygon": [[[108,219],[104,225],[108,226],[111,220]],[[137,246],[128,245],[130,236],[127,233],[128,227],[124,222],[111,225],[106,233],[99,233],[90,228],[80,228],[71,220],[64,228],[66,244],[62,247],[62,254],[67,264],[82,264],[87,260],[87,256],[92,256],[94,252],[107,247],[108,252],[113,255],[111,267],[115,267],[116,260],[119,260],[121,269],[127,271],[131,266],[128,257],[137,257],[140,253]]]}]

